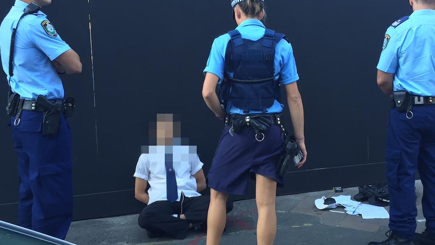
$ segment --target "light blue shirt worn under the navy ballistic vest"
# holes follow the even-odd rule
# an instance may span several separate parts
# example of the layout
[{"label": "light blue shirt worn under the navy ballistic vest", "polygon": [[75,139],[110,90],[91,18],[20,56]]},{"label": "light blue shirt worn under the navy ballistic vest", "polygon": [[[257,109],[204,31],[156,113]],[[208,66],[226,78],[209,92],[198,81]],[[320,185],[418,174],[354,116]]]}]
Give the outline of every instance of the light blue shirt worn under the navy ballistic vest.
[{"label": "light blue shirt worn under the navy ballistic vest", "polygon": [[[256,19],[245,20],[236,28],[242,35],[242,38],[253,41],[263,37],[265,29],[263,23]],[[204,69],[204,74],[209,72],[218,76],[219,83],[222,83],[224,79],[225,53],[230,39],[230,34],[228,33],[214,39],[207,67]],[[232,76],[233,74],[229,75]],[[292,45],[284,39],[275,46],[275,80],[278,78],[280,78],[281,85],[287,85],[299,80]],[[267,113],[280,113],[283,111],[283,108],[284,106],[275,100],[274,105],[267,108]],[[231,106],[231,100],[227,104],[227,113],[246,114],[243,113],[243,109]],[[261,111],[251,110],[249,112],[249,114],[254,113],[261,113]]]}]

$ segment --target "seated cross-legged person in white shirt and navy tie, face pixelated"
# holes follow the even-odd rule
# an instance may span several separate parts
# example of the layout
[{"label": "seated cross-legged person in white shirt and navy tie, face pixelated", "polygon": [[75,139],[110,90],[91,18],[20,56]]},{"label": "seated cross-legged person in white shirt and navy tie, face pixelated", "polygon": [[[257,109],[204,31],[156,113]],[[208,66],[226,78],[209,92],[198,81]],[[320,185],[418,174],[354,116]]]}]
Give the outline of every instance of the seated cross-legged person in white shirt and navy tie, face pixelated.
[{"label": "seated cross-legged person in white shirt and navy tie, face pixelated", "polygon": [[[181,124],[173,122],[172,114],[157,114],[157,145],[149,146],[137,162],[135,198],[147,205],[138,223],[150,238],[184,239],[189,229],[205,231],[210,197],[199,193],[206,188],[203,163],[194,146],[179,145],[180,138],[173,136],[180,133]],[[232,209],[227,202],[227,213]]]}]

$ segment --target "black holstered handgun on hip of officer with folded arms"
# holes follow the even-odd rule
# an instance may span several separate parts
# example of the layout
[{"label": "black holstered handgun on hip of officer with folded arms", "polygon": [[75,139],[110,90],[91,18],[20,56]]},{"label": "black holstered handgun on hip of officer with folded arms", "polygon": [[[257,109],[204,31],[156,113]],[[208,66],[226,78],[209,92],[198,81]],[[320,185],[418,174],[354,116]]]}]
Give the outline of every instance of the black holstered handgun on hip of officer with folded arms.
[{"label": "black holstered handgun on hip of officer with folded arms", "polygon": [[38,95],[35,104],[44,109],[42,134],[57,134],[61,125],[61,115],[64,109],[63,101],[49,101],[45,96]]}]

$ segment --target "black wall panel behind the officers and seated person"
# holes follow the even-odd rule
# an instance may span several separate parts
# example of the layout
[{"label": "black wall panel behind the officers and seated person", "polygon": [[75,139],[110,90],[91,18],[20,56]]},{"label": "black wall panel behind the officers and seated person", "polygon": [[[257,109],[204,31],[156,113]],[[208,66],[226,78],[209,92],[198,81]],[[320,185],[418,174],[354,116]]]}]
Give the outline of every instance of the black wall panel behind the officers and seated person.
[{"label": "black wall panel behind the officers and seated person", "polygon": [[[208,172],[223,125],[202,100],[202,70],[213,38],[236,27],[229,2],[70,0],[43,9],[83,63],[82,74],[63,77],[77,102],[70,119],[75,219],[140,211],[132,176],[156,113],[181,115],[182,136],[198,145]],[[2,17],[12,4],[0,3]],[[408,1],[266,6],[266,26],[287,34],[294,48],[308,148],[308,162],[288,174],[278,194],[383,180],[389,105],[376,85],[376,64],[386,28],[411,13]],[[5,81],[0,94],[6,91]],[[17,160],[10,128],[0,133],[0,219],[14,222]],[[235,198],[253,198],[253,186]]]}]

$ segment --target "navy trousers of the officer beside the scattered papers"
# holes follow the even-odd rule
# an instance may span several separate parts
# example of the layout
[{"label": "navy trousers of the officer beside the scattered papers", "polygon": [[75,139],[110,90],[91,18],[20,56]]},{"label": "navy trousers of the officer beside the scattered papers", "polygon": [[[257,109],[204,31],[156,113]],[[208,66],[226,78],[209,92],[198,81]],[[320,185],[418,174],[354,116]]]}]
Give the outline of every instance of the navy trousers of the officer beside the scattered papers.
[{"label": "navy trousers of the officer beside the scattered papers", "polygon": [[[435,105],[414,106],[412,113],[391,109],[387,136],[390,229],[412,238],[416,228],[415,173],[423,184],[426,231],[435,232]],[[412,116],[412,118],[411,118]]]}]

